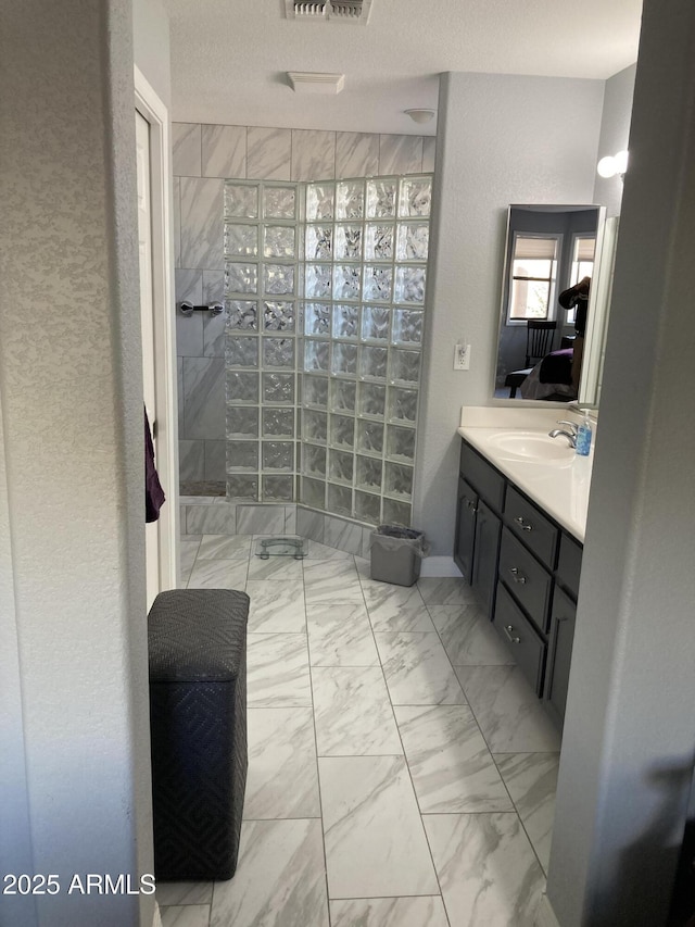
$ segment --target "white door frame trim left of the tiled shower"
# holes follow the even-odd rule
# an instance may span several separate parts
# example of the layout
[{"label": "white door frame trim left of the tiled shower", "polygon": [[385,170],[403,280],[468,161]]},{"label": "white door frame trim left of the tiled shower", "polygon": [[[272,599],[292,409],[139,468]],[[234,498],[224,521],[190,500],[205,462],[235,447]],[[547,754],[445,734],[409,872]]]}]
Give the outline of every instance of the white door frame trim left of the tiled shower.
[{"label": "white door frame trim left of the tiled shower", "polygon": [[160,589],[179,584],[178,397],[176,333],[172,313],[172,171],[168,111],[140,68],[134,65],[135,108],[150,124],[152,196],[152,302],[154,391],[157,408],[156,468],[166,492],[157,521]]}]

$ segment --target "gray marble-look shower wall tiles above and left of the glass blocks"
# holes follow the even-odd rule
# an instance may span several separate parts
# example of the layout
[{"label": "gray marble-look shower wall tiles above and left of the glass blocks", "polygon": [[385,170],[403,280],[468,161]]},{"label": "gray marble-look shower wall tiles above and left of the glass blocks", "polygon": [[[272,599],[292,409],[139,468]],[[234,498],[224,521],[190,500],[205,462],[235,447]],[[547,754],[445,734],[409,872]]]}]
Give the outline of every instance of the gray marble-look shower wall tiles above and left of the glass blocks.
[{"label": "gray marble-look shower wall tiles above and left of the glass blocks", "polygon": [[[224,298],[224,178],[329,180],[434,170],[434,138],[174,123],[176,302]],[[225,492],[225,318],[177,312],[181,493]]]}]

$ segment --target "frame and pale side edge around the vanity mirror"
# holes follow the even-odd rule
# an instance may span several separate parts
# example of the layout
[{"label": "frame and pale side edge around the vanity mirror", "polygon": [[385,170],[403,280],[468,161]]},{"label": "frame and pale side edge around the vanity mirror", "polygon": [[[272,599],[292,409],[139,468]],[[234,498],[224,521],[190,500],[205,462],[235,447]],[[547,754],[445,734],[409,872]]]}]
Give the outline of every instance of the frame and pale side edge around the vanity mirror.
[{"label": "frame and pale side edge around the vanity mirror", "polygon": [[[582,373],[579,384],[579,396],[576,400],[561,402],[558,400],[544,399],[509,399],[508,397],[496,397],[497,389],[497,363],[500,359],[500,340],[506,318],[506,296],[509,286],[509,259],[510,259],[510,221],[513,209],[533,209],[542,211],[543,208],[552,209],[554,212],[568,212],[570,210],[596,210],[596,252],[594,254],[594,273],[589,297],[587,325],[584,341],[584,355]],[[612,287],[612,261],[617,240],[617,220],[606,220],[606,208],[598,203],[510,203],[507,208],[507,221],[505,225],[504,263],[502,268],[502,295],[500,300],[500,321],[497,324],[497,341],[495,351],[495,363],[492,373],[492,400],[495,403],[507,406],[558,406],[568,408],[572,402],[582,408],[596,409],[601,392],[601,378],[603,374],[603,359],[605,353],[605,338],[608,324],[608,308],[610,304],[610,291]]]}]

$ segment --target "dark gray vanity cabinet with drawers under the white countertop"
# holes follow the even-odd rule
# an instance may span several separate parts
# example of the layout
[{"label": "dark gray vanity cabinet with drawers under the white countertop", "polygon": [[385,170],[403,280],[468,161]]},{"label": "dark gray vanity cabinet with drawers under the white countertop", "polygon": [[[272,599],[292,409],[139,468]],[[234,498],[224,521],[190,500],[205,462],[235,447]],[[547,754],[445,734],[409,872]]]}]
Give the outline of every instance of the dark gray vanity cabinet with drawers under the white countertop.
[{"label": "dark gray vanity cabinet with drawers under the white countertop", "polygon": [[465,440],[454,560],[561,727],[582,546]]}]

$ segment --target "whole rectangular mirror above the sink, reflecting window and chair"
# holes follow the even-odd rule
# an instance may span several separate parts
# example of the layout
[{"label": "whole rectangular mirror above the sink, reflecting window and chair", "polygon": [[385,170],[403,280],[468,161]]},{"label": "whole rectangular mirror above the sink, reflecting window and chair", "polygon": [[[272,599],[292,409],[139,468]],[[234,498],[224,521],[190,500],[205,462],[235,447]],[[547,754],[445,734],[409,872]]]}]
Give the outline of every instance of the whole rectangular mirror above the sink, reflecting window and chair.
[{"label": "whole rectangular mirror above the sink, reflecting window and chair", "polygon": [[495,398],[598,404],[616,233],[598,205],[509,206]]}]

